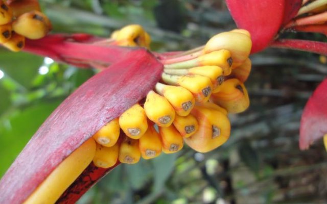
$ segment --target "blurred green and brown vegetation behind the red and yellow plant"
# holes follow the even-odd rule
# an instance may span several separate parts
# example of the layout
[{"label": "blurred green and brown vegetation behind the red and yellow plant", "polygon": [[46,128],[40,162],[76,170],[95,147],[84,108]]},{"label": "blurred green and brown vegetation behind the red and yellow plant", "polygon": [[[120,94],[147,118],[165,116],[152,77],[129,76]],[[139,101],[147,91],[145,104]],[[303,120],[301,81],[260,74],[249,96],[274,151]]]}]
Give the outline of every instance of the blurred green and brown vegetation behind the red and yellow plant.
[{"label": "blurred green and brown vegetation behind the red and yellow plant", "polygon": [[[185,50],[236,27],[223,1],[44,0],[53,32],[109,36],[139,23],[152,50]],[[295,34],[292,34],[295,35]],[[286,36],[288,37],[288,36]],[[321,39],[322,35],[297,34]],[[229,115],[229,141],[207,154],[179,154],[120,165],[79,203],[325,203],[327,154],[322,142],[298,148],[302,108],[327,74],[322,56],[266,49],[251,56],[251,106]],[[0,48],[0,177],[40,124],[96,73]]]}]

